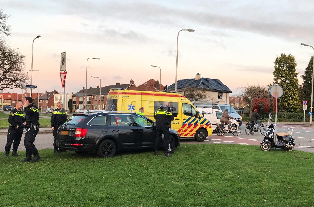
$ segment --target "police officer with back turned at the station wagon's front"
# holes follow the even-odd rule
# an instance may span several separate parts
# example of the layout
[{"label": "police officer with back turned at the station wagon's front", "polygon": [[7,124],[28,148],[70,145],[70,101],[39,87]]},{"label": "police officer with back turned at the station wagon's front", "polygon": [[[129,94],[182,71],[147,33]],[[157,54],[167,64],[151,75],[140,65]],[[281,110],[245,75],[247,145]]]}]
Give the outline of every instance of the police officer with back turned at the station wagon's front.
[{"label": "police officer with back turned at the station wagon's front", "polygon": [[157,155],[159,143],[162,140],[161,135],[164,135],[164,156],[172,157],[169,155],[168,146],[169,146],[169,125],[173,121],[174,117],[171,113],[170,104],[166,102],[165,104],[160,104],[160,108],[155,112],[154,118],[156,120],[156,140],[154,146],[154,155]]}]

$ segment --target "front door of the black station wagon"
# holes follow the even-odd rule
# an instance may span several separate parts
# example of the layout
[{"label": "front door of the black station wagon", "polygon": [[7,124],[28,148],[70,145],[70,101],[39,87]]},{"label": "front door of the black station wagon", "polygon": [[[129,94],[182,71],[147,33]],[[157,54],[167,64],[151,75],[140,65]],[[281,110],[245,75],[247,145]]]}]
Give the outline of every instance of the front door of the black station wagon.
[{"label": "front door of the black station wagon", "polygon": [[141,147],[151,147],[155,144],[156,127],[155,123],[141,115],[131,115],[137,124],[138,129],[138,144]]}]

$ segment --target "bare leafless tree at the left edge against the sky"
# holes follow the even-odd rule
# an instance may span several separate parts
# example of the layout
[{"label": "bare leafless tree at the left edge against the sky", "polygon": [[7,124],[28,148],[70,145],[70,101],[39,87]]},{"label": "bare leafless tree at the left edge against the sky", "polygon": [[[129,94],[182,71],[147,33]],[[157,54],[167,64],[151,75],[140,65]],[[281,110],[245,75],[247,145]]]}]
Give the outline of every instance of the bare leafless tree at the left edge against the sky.
[{"label": "bare leafless tree at the left edge against the sky", "polygon": [[[0,9],[0,31],[10,35],[7,24],[9,16]],[[25,56],[6,44],[5,37],[0,32],[0,90],[6,88],[25,88],[24,74]]]}]

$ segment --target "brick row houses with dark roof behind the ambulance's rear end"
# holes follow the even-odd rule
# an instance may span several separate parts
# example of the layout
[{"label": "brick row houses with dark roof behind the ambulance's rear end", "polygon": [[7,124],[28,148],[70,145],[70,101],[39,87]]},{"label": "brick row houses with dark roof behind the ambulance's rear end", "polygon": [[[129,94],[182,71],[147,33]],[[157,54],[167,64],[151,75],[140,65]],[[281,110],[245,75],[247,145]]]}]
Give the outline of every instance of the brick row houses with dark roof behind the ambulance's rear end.
[{"label": "brick row houses with dark roof behind the ambulance's rear end", "polygon": [[[134,84],[134,81],[132,79],[130,80],[130,83],[126,84],[120,84],[119,82],[117,82],[116,85],[101,87],[101,94],[99,86],[97,86],[97,88],[89,87],[86,90],[87,109],[104,109],[104,106],[106,106],[107,95],[111,88],[124,88],[128,90],[134,90],[134,88],[136,88],[136,85]],[[82,90],[72,95],[72,104],[73,110],[86,109],[84,87]]]}]

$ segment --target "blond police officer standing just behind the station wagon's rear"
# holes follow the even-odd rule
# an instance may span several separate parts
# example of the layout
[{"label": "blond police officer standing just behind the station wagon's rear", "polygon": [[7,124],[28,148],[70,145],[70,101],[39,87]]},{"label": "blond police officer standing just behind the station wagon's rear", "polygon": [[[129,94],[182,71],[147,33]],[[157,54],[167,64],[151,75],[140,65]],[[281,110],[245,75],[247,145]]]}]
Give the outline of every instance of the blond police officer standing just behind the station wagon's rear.
[{"label": "blond police officer standing just behind the station wagon's rear", "polygon": [[63,103],[61,101],[58,101],[57,109],[53,110],[53,113],[50,119],[51,129],[53,130],[53,137],[55,138],[53,141],[53,148],[55,149],[54,151],[55,153],[66,151],[62,148],[59,148],[59,151],[58,151],[58,147],[56,145],[56,138],[58,136],[58,128],[60,125],[64,124],[64,122],[68,119],[67,113],[65,113],[65,110],[62,107],[63,107]]}]

